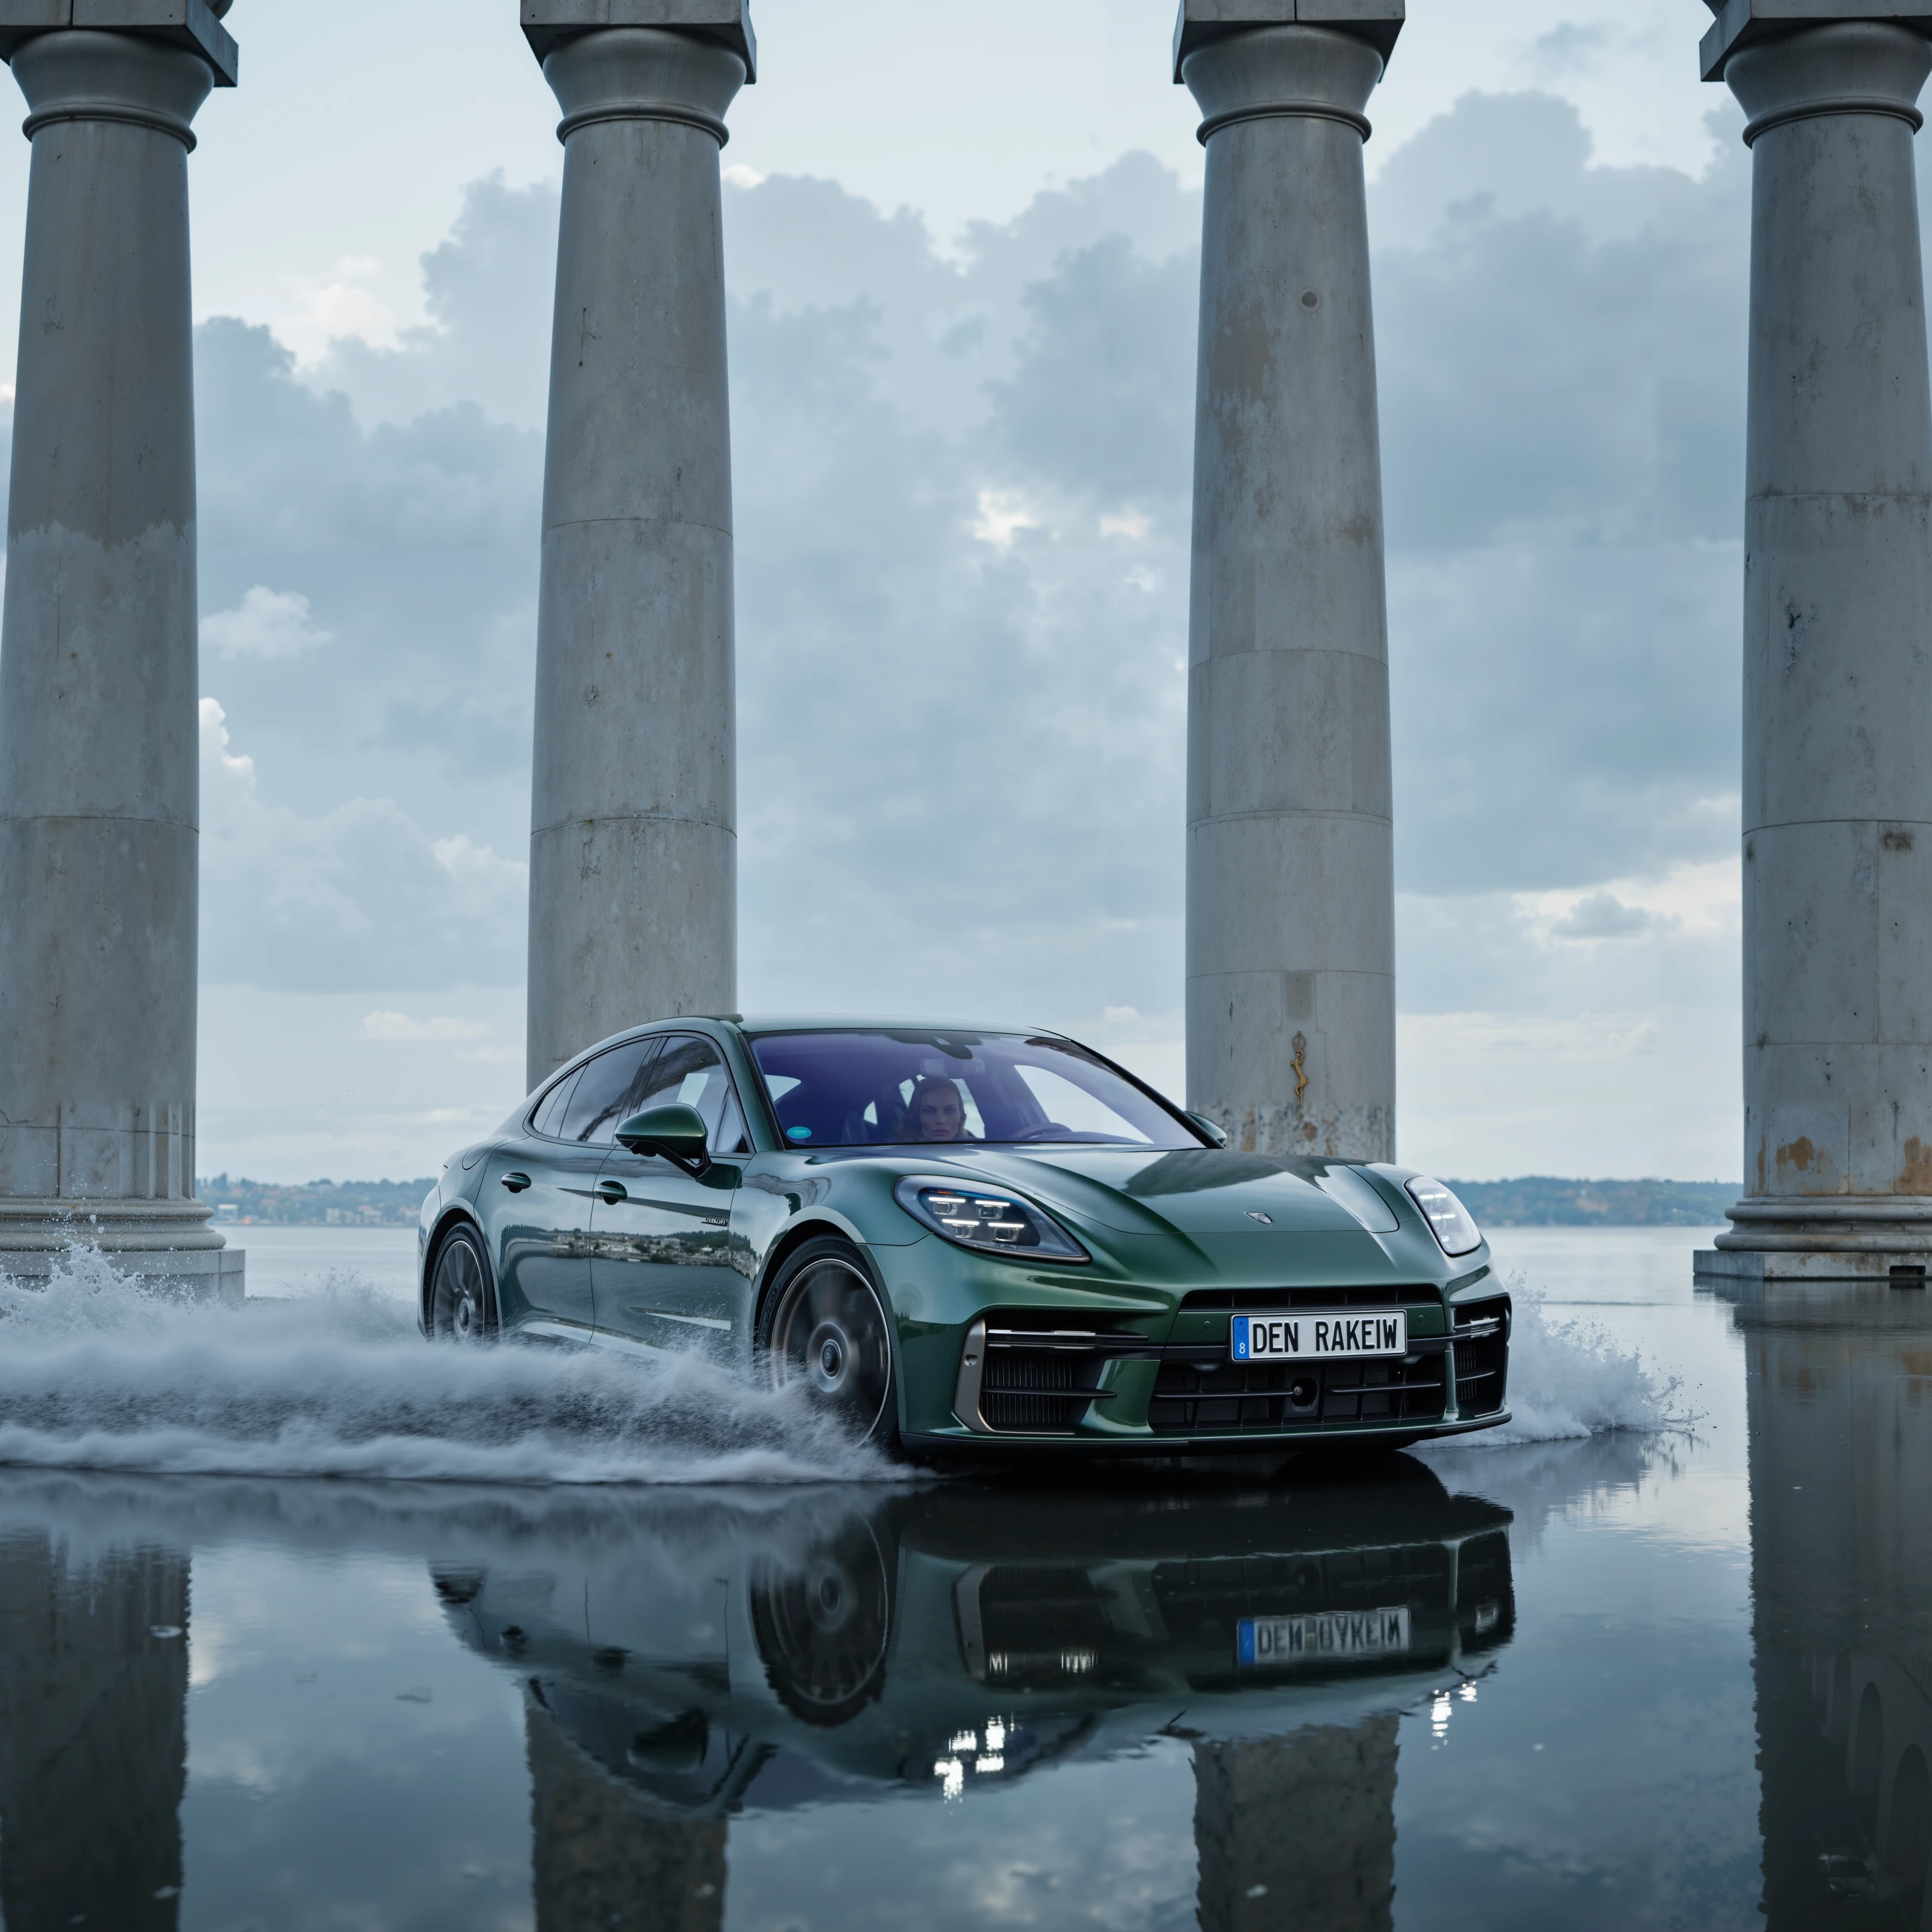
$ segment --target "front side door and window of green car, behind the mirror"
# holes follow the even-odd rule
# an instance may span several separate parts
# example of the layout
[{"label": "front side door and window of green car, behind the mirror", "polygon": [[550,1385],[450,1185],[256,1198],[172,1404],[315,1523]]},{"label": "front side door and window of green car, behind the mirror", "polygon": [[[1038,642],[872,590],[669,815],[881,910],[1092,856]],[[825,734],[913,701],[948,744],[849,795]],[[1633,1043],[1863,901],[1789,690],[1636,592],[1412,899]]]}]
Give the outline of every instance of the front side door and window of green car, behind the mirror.
[{"label": "front side door and window of green car, behind the mirror", "polygon": [[605,1157],[591,1209],[597,1325],[661,1349],[736,1360],[750,1345],[752,1318],[750,1250],[734,1244],[730,1231],[744,1115],[709,1039],[667,1037],[638,1111],[670,1101],[703,1115],[711,1167],[694,1179],[655,1153],[612,1148]]}]

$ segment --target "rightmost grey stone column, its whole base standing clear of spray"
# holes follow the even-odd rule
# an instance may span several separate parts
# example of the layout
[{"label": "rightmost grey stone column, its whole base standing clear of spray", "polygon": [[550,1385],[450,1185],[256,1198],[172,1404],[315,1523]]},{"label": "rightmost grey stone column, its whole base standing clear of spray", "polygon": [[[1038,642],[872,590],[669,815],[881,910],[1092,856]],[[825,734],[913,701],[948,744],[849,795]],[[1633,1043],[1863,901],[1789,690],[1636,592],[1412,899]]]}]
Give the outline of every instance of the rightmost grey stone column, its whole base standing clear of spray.
[{"label": "rightmost grey stone column, its whole base standing clear of spray", "polygon": [[1750,116],[1752,214],[1745,1200],[1700,1273],[1932,1258],[1932,390],[1913,182],[1932,6],[1918,12],[1814,23],[1791,0],[1731,0],[1704,43],[1706,79]]}]

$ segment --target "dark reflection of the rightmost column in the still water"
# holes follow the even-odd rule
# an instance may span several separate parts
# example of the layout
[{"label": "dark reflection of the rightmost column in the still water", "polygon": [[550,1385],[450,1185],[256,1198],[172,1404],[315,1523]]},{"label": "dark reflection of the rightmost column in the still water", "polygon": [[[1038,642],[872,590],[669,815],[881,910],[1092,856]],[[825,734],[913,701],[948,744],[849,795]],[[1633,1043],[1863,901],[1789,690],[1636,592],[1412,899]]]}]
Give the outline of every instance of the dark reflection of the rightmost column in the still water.
[{"label": "dark reflection of the rightmost column in the still water", "polygon": [[1932,1304],[1741,1291],[1764,1915],[1928,1926]]}]

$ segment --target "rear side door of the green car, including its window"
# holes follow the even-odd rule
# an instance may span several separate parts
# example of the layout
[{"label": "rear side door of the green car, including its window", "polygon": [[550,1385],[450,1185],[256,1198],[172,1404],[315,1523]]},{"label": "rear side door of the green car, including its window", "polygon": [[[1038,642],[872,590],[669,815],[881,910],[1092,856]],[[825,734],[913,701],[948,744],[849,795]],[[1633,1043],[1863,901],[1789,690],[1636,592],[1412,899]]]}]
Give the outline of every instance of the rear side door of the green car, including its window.
[{"label": "rear side door of the green car, including its window", "polygon": [[653,1036],[599,1053],[537,1107],[533,1119],[549,1134],[526,1134],[491,1157],[481,1206],[506,1323],[558,1321],[585,1333],[595,1327],[593,1188],[630,1092],[655,1051]]}]

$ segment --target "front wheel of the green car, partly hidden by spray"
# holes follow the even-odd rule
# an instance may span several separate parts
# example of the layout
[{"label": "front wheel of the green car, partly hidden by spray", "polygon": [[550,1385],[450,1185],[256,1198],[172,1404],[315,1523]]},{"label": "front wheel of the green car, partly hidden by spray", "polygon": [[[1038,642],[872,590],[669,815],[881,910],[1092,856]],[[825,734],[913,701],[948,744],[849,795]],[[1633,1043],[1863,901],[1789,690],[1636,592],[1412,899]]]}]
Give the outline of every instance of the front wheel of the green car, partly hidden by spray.
[{"label": "front wheel of the green car, partly hidden by spray", "polygon": [[784,1258],[765,1296],[757,1354],[775,1389],[806,1383],[813,1406],[860,1441],[896,1451],[893,1318],[852,1242],[823,1235]]}]

